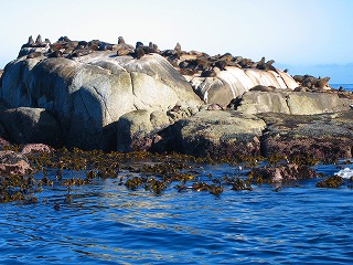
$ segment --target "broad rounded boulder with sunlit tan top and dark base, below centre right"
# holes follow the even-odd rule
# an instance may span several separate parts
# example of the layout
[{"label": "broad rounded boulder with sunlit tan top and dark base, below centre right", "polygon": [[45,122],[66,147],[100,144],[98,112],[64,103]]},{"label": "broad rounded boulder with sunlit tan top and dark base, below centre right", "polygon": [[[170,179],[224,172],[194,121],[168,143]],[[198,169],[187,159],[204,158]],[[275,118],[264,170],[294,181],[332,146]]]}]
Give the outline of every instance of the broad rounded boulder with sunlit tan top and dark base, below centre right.
[{"label": "broad rounded boulder with sunlit tan top and dark base, below centre right", "polygon": [[214,158],[260,155],[265,121],[236,112],[203,110],[160,132],[154,150]]}]

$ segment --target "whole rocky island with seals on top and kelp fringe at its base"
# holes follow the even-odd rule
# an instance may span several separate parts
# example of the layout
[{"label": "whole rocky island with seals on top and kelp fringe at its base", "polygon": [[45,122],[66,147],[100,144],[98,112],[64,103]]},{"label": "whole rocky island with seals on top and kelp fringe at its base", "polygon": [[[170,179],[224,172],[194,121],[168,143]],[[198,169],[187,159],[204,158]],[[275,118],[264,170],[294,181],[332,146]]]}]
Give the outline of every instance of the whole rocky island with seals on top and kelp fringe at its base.
[{"label": "whole rocky island with seals on top and kelp fringe at its base", "polygon": [[[117,44],[30,36],[0,72],[0,202],[36,203],[31,194],[43,186],[69,193],[95,178],[157,195],[174,181],[179,192],[220,195],[226,187],[315,178],[317,161],[353,156],[353,94],[332,89],[329,77],[287,72],[265,57],[211,56],[179,43],[161,51],[121,36]],[[246,179],[200,182],[200,162],[242,163]],[[343,184],[333,176],[317,187]]]}]

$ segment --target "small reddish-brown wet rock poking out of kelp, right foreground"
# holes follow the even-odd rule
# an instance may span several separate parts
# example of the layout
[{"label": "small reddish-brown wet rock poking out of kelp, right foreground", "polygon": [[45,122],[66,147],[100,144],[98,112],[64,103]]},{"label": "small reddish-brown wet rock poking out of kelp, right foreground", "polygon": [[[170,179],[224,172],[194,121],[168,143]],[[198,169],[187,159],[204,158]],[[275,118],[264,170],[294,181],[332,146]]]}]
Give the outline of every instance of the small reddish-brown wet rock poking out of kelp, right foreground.
[{"label": "small reddish-brown wet rock poking out of kelp, right foreground", "polygon": [[309,166],[288,163],[278,167],[254,168],[250,176],[254,179],[260,178],[264,182],[284,182],[315,178],[317,173]]}]

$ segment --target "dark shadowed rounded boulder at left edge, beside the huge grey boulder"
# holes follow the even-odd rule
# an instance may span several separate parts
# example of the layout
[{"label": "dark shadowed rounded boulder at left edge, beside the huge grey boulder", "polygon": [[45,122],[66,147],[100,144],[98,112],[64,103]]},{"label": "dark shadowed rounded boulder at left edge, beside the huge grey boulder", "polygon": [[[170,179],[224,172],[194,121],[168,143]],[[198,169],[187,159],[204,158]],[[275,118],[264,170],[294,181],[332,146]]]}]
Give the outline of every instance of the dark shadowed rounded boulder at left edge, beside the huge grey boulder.
[{"label": "dark shadowed rounded boulder at left edge, beside the huge grey boulder", "polygon": [[40,142],[60,146],[61,126],[44,108],[19,107],[0,114],[7,137],[14,144]]}]

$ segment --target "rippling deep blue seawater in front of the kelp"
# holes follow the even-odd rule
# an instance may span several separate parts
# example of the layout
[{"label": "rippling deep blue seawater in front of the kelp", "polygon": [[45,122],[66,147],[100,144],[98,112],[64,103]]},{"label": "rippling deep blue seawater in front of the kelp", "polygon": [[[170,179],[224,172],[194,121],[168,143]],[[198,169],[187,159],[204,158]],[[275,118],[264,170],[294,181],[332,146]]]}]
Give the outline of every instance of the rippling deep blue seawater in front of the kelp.
[{"label": "rippling deep blue seawater in front of the kelp", "polygon": [[[344,167],[353,169],[315,170]],[[201,179],[239,173],[227,165],[200,169]],[[46,187],[35,204],[0,204],[0,264],[352,264],[353,190],[318,181],[226,188],[220,197],[178,192],[178,183],[154,195],[117,179]]]}]

